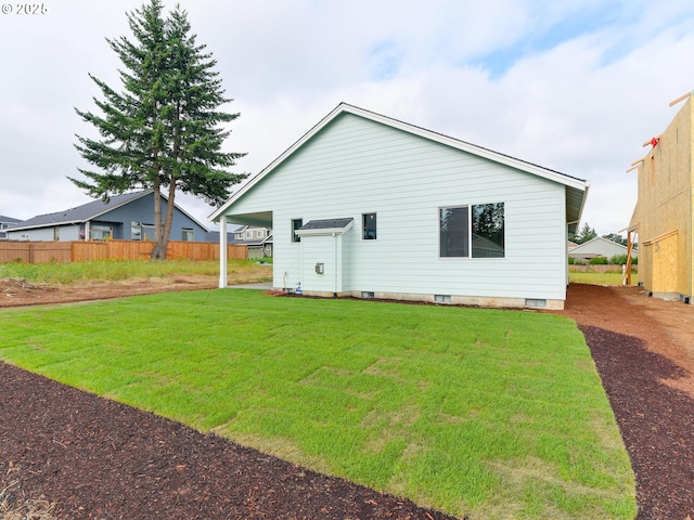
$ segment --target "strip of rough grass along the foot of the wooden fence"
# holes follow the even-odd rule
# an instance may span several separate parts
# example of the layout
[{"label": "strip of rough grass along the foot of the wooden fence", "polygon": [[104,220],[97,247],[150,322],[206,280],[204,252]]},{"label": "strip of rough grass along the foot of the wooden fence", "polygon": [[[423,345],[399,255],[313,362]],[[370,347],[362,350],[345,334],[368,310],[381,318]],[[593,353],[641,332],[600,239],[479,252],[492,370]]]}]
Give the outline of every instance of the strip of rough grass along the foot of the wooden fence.
[{"label": "strip of rough grass along the foot of the wooden fence", "polygon": [[[230,277],[245,274],[255,280],[258,271],[265,271],[265,280],[272,278],[272,271],[258,266],[255,260],[229,260]],[[162,278],[175,275],[218,276],[218,261],[130,261],[99,260],[67,263],[0,263],[1,278],[24,278],[31,283],[72,285],[87,282],[119,282],[132,278]]]}]

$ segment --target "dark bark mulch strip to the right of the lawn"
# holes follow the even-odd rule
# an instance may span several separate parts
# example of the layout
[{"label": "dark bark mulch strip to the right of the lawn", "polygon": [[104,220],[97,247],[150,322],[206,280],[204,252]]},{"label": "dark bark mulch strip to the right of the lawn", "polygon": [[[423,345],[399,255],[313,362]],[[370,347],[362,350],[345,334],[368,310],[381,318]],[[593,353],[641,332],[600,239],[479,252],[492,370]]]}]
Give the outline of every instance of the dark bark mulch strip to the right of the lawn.
[{"label": "dark bark mulch strip to the right of the lawn", "polygon": [[694,399],[663,382],[686,370],[631,336],[579,325],[637,476],[639,520],[694,518]]}]

